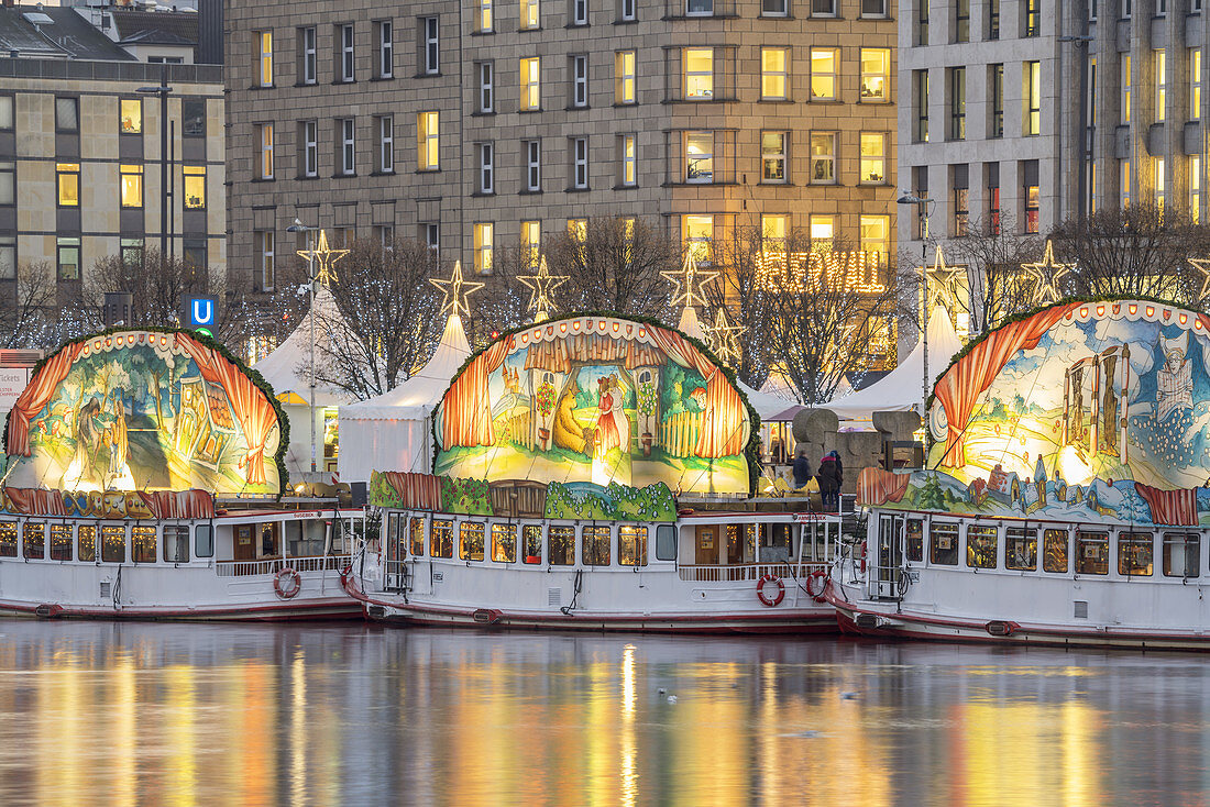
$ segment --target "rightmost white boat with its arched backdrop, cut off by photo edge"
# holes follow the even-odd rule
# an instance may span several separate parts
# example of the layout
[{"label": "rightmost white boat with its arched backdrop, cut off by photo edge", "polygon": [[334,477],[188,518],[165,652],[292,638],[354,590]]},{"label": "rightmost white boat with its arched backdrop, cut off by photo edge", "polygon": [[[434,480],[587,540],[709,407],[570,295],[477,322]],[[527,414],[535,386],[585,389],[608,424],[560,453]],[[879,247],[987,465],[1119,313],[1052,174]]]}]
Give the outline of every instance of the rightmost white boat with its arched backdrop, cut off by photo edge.
[{"label": "rightmost white boat with its arched backdrop, cut off by photo edge", "polygon": [[943,373],[924,469],[863,469],[826,599],[870,636],[1210,650],[1210,317],[1061,301]]}]

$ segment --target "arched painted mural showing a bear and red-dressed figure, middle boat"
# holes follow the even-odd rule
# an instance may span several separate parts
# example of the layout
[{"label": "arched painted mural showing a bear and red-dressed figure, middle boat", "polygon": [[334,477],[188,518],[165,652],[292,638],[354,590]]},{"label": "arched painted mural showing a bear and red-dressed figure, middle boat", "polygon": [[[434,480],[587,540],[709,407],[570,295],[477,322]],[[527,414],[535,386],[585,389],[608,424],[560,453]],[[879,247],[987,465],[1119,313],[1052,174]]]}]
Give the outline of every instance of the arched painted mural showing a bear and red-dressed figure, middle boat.
[{"label": "arched painted mural showing a bear and red-dressed figure, middle boat", "polygon": [[747,492],[751,417],[679,332],[574,316],[502,336],[455,376],[434,472]]}]

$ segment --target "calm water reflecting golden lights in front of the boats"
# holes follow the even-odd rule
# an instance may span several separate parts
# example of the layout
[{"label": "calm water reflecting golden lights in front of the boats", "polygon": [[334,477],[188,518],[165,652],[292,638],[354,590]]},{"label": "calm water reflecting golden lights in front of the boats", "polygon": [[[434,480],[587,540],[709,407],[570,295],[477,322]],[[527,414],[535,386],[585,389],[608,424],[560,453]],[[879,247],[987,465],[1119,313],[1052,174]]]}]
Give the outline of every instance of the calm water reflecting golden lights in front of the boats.
[{"label": "calm water reflecting golden lights in front of the boats", "polygon": [[1192,655],[0,622],[0,803],[1205,803]]}]

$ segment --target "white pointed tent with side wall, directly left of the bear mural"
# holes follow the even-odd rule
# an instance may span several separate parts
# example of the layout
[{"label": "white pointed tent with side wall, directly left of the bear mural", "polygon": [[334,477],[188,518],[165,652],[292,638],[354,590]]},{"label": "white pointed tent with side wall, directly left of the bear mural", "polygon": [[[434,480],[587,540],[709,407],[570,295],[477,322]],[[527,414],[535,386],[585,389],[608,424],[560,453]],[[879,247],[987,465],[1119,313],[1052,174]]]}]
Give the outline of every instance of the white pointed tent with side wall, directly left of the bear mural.
[{"label": "white pointed tent with side wall, directly left of the bear mural", "polygon": [[371,471],[430,472],[431,416],[469,356],[462,319],[451,313],[419,373],[375,398],[340,407],[340,480],[369,482]]}]

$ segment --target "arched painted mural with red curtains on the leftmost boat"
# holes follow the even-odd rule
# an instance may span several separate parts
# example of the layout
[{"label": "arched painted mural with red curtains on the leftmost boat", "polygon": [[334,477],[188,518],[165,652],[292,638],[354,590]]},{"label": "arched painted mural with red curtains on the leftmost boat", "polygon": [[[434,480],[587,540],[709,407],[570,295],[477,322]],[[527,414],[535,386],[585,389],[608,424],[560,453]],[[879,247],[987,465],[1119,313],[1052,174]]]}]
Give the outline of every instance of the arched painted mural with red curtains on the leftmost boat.
[{"label": "arched painted mural with red curtains on the leftmost boat", "polygon": [[13,405],[8,484],[277,495],[278,411],[185,332],[90,336],[51,356]]}]

